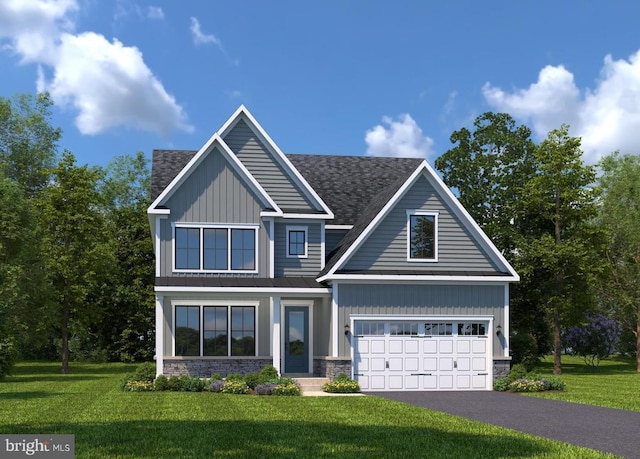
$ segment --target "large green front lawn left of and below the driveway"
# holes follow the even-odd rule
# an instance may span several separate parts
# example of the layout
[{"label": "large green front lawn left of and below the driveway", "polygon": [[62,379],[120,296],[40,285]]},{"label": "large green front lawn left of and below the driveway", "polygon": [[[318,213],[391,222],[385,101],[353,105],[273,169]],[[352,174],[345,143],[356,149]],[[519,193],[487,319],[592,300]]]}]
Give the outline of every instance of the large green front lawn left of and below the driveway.
[{"label": "large green front lawn left of and below the driveway", "polygon": [[0,434],[74,434],[78,458],[612,457],[377,397],[121,392],[133,369],[19,364]]}]

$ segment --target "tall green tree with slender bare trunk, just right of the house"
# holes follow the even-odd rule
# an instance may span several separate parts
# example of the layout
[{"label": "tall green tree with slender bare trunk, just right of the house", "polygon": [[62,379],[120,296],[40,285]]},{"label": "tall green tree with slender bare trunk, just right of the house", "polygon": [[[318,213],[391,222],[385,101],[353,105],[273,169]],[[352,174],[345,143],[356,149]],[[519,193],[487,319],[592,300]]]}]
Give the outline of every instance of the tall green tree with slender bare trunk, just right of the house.
[{"label": "tall green tree with slender bare trunk, just right of the house", "polygon": [[546,225],[518,242],[523,279],[536,278],[537,301],[551,315],[554,374],[561,374],[561,330],[593,304],[591,286],[602,267],[604,233],[593,225],[597,189],[595,169],[582,161],[580,139],[569,126],[549,132],[535,149],[537,173],[520,192],[519,219]]}]

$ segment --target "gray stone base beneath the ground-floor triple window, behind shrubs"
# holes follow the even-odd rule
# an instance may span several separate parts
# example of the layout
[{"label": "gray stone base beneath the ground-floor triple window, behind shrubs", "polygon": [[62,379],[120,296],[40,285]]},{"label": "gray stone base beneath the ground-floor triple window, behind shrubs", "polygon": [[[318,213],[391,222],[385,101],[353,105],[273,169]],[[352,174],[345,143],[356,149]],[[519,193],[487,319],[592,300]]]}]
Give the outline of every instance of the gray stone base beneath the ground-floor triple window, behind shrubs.
[{"label": "gray stone base beneath the ground-floor triple window, behind shrubs", "polygon": [[210,378],[219,374],[223,378],[231,373],[245,375],[257,373],[265,365],[273,365],[271,357],[256,357],[242,359],[164,359],[162,374],[165,376],[197,376]]}]

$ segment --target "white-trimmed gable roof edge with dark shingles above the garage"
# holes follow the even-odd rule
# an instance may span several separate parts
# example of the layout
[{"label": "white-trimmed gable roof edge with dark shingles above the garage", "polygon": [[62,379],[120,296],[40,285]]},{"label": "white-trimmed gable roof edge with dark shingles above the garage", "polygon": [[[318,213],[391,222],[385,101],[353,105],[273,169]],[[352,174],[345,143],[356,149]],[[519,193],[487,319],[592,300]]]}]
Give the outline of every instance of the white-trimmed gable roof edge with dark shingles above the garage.
[{"label": "white-trimmed gable roof edge with dark shingles above the garage", "polygon": [[324,270],[318,276],[319,281],[326,281],[337,278],[337,271],[343,269],[346,263],[371,236],[378,225],[389,215],[392,209],[398,204],[408,190],[410,190],[420,177],[425,177],[438,193],[439,197],[451,209],[459,219],[469,235],[474,238],[477,244],[483,248],[490,260],[498,270],[505,273],[501,276],[503,281],[517,281],[519,277],[513,267],[498,251],[495,245],[489,240],[478,224],[471,218],[469,213],[462,207],[449,188],[442,182],[440,177],[423,161],[408,177],[401,182],[401,179],[377,195],[361,215],[354,227],[345,235],[329,260]]}]

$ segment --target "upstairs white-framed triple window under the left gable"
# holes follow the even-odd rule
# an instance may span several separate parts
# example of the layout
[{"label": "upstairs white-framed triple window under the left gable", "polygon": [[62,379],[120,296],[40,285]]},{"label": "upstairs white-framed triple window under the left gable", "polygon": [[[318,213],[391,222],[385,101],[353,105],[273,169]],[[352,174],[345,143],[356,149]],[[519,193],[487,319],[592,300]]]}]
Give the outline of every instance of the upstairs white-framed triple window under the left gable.
[{"label": "upstairs white-framed triple window under the left gable", "polygon": [[258,225],[175,224],[173,246],[175,271],[258,270]]}]

